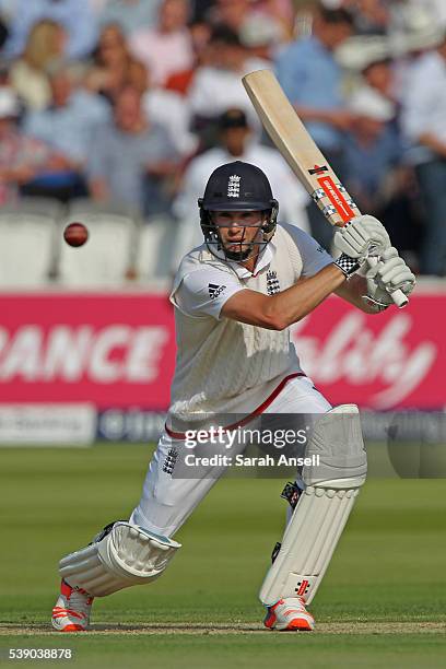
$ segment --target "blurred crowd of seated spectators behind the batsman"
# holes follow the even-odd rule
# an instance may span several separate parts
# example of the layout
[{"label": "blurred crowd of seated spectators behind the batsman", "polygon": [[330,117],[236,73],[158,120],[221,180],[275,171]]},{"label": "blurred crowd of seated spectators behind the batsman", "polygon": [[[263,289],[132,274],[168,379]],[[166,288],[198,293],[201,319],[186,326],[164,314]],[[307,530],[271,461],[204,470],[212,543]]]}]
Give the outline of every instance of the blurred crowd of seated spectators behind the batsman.
[{"label": "blurred crowd of seated spectators behind the batsman", "polygon": [[273,69],[359,208],[446,274],[444,0],[0,0],[0,204],[128,207],[200,242],[219,164],[268,174],[280,219],[331,228],[242,85]]}]

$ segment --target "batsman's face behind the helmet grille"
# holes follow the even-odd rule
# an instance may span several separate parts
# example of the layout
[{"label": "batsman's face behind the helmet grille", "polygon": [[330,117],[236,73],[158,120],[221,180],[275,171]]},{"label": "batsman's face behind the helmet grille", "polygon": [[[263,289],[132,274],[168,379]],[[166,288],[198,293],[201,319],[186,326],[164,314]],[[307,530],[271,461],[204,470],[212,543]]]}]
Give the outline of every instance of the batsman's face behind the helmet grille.
[{"label": "batsman's face behind the helmet grille", "polygon": [[226,251],[243,257],[253,249],[253,243],[261,240],[262,211],[214,211],[212,221]]}]

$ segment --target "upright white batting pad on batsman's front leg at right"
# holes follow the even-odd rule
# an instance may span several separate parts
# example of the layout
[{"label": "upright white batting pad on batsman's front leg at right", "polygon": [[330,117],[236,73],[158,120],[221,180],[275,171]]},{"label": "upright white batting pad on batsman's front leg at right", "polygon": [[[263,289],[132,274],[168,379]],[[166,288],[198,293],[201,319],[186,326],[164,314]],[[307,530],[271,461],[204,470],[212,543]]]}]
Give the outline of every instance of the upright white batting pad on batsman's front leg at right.
[{"label": "upright white batting pad on batsman's front leg at right", "polygon": [[319,465],[303,470],[304,490],[260,589],[267,606],[296,596],[309,603],[320,585],[367,472],[357,407],[322,414],[305,455]]}]

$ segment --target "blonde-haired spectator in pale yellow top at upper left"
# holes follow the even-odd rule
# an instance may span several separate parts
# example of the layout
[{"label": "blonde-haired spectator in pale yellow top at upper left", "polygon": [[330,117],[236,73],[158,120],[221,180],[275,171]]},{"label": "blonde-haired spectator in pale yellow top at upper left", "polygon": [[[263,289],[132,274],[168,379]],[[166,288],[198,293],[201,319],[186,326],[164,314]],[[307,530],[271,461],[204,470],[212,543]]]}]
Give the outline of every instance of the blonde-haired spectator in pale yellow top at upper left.
[{"label": "blonde-haired spectator in pale yellow top at upper left", "polygon": [[26,107],[44,109],[51,98],[48,69],[64,56],[67,34],[49,19],[36,23],[25,49],[10,70],[10,81]]}]

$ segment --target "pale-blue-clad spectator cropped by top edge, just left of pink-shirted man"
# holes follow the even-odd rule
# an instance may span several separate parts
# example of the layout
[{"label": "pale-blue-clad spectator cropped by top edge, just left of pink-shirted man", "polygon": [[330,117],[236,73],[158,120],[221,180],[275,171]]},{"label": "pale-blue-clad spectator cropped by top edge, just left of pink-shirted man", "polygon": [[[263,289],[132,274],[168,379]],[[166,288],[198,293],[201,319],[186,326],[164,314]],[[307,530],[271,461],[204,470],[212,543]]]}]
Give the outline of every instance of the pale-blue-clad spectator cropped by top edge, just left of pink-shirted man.
[{"label": "pale-blue-clad spectator cropped by top edge, just left of pink-shirted man", "polygon": [[153,27],[156,23],[161,0],[107,0],[97,14],[99,25],[117,23],[129,36],[141,27]]}]

